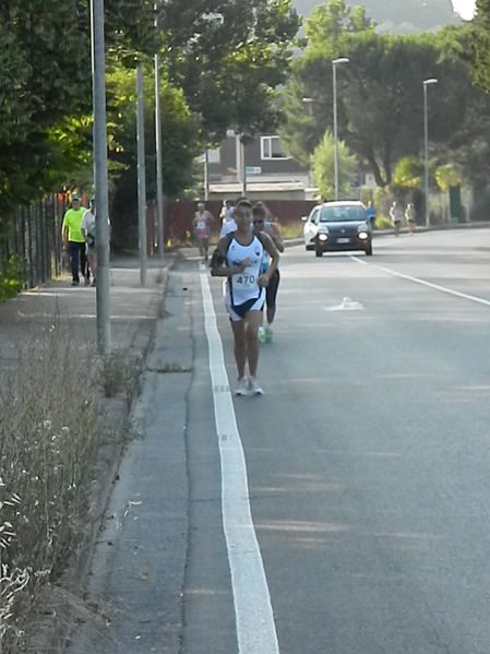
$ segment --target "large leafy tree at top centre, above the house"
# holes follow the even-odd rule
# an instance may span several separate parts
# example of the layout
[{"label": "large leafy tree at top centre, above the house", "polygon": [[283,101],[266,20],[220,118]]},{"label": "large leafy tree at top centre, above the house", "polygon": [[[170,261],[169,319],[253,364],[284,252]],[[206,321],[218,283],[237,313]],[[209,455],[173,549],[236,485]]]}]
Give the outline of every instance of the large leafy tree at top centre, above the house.
[{"label": "large leafy tree at top centre, above the house", "polygon": [[253,135],[275,128],[299,19],[290,0],[177,0],[160,4],[169,80],[181,87],[203,134]]}]

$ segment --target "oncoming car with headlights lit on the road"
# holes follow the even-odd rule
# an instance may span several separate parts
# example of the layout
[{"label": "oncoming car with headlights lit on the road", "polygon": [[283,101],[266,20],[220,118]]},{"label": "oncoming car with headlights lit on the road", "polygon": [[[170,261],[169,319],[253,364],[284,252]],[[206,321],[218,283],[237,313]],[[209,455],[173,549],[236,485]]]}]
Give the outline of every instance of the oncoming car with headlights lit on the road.
[{"label": "oncoming car with headlights lit on the road", "polygon": [[366,206],[358,200],[324,202],[313,206],[309,216],[302,218],[304,246],[323,252],[363,250],[372,254],[372,230],[366,215]]}]

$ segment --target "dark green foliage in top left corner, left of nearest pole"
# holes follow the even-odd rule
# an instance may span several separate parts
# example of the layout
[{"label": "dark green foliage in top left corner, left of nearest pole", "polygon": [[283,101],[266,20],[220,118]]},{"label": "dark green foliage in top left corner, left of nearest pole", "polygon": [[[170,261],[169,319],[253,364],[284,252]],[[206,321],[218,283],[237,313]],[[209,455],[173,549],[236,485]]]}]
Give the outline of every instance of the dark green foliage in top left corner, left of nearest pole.
[{"label": "dark green foliage in top left corner, left of nearest pole", "polygon": [[0,215],[52,183],[50,129],[87,110],[87,21],[76,0],[0,4]]}]

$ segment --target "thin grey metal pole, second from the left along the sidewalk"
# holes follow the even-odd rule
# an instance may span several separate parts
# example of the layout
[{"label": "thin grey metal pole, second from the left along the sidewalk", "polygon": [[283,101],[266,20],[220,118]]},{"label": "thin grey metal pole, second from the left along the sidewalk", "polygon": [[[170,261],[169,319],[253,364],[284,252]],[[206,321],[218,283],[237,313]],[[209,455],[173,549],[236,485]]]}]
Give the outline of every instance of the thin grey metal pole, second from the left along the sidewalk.
[{"label": "thin grey metal pole, second from the left along the sidewalk", "polygon": [[143,72],[136,68],[136,139],[138,139],[138,224],[140,233],[140,283],[146,285],[146,167],[145,167],[145,135],[143,115]]}]

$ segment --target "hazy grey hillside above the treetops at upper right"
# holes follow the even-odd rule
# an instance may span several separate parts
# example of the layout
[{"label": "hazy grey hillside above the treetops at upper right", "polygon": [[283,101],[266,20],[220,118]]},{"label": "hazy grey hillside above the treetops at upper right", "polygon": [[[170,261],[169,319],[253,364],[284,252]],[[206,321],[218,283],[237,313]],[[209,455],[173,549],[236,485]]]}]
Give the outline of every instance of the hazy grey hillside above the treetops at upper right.
[{"label": "hazy grey hillside above the treetops at upper right", "polygon": [[[447,23],[458,23],[451,0],[364,0],[348,4],[363,4],[369,17],[383,32],[408,34],[426,29],[437,29]],[[318,0],[292,0],[295,9],[308,17]]]}]

